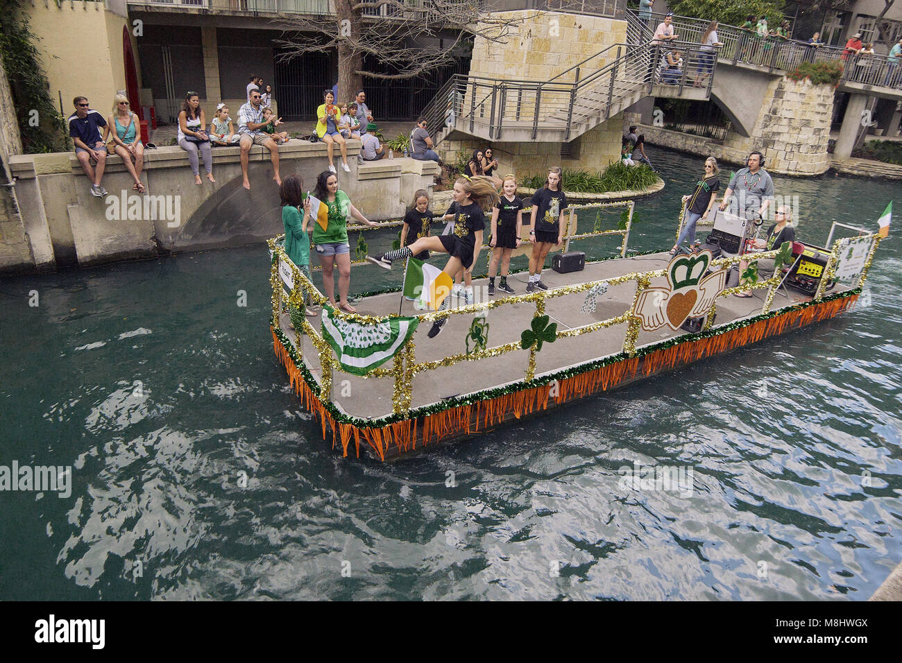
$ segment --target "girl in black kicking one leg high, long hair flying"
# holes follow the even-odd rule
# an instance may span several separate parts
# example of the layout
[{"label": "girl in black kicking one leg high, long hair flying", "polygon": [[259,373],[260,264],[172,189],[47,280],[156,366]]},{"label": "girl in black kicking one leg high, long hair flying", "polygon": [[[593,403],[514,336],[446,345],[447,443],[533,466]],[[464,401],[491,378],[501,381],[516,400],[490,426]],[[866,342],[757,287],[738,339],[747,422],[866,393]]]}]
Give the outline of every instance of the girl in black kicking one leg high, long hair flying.
[{"label": "girl in black kicking one leg high, long hair flying", "polygon": [[[420,237],[409,246],[402,246],[397,251],[390,251],[382,255],[369,256],[368,260],[375,262],[382,269],[391,270],[391,262],[406,260],[421,251],[435,251],[448,253],[445,269],[438,278],[430,284],[428,291],[424,289],[423,299],[428,300],[432,308],[447,308],[447,294],[450,293],[451,284],[457,272],[464,270],[464,279],[467,288],[471,287],[473,278],[473,266],[479,248],[483,245],[483,230],[485,228],[485,215],[483,207],[491,207],[498,202],[498,190],[490,178],[466,176],[458,178],[454,183],[454,204],[448,209],[447,214],[454,213],[454,232],[451,235],[439,235]],[[444,276],[442,275],[444,274]],[[424,282],[424,286],[426,283]],[[432,291],[438,292],[437,297],[432,297]],[[445,326],[447,318],[436,320],[429,330],[429,338],[434,338]]]}]

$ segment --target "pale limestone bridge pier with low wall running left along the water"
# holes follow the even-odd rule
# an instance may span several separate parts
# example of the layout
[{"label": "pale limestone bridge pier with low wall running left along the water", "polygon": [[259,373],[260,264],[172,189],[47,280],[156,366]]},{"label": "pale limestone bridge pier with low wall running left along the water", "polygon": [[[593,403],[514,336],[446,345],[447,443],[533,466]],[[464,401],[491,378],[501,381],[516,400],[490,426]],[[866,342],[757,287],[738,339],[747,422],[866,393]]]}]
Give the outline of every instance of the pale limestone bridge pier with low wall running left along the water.
[{"label": "pale limestone bridge pier with low wall running left along the water", "polygon": [[758,150],[764,153],[769,172],[820,175],[830,168],[827,142],[832,115],[833,87],[777,78],[768,87],[751,136],[730,131],[722,144],[648,124],[641,132],[648,143],[732,163],[743,163],[749,152]]}]

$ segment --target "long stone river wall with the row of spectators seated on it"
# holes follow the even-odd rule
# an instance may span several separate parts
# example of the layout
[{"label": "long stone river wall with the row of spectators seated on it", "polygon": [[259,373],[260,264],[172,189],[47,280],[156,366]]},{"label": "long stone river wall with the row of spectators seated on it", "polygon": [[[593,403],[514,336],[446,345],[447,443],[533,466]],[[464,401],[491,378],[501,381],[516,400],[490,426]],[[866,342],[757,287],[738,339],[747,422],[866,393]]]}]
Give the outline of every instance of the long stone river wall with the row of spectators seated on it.
[{"label": "long stone river wall with the row of spectators seated on it", "polygon": [[[359,150],[358,141],[348,143],[351,172],[339,169],[338,184],[354,207],[373,220],[403,216],[414,192],[431,189],[439,172],[435,162],[413,159],[358,165]],[[16,181],[10,190],[19,202],[31,257],[30,264],[23,265],[21,252],[7,252],[0,245],[0,272],[257,244],[281,234],[279,188],[272,180],[269,151],[252,148],[250,191],[242,188],[239,153],[237,147],[214,149],[216,183],[205,179],[198,186],[181,148],[148,150],[142,175],[147,196],[132,191],[133,180],[122,160],[109,157],[103,178],[110,192],[106,199],[90,195],[87,177],[71,152],[13,157],[10,170]],[[305,189],[313,189],[328,166],[326,145],[290,141],[281,146],[280,161],[283,178],[297,173]],[[2,216],[3,203],[0,198],[0,231],[4,238],[12,237],[13,226]]]}]

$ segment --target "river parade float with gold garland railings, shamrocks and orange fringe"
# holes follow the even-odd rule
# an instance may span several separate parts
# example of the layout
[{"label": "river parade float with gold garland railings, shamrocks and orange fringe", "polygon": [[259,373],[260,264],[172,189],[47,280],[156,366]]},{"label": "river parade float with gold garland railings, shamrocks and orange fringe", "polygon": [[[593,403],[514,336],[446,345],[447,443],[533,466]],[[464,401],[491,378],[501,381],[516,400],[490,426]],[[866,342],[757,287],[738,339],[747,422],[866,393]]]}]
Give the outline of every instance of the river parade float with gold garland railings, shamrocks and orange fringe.
[{"label": "river parade float with gold garland railings, shamrocks and orange fringe", "polygon": [[[576,213],[605,207],[623,207],[621,227],[576,232]],[[824,246],[787,242],[744,256],[773,258],[774,275],[732,287],[740,253],[628,255],[632,213],[631,201],[574,207],[564,251],[621,235],[617,255],[579,271],[543,272],[549,290],[469,306],[455,298],[445,310],[436,308],[454,298],[447,281],[419,262],[405,270],[417,301],[394,288],[366,294],[357,314],[333,310],[273,238],[275,354],[325,440],[344,456],[364,450],[396,460],[839,315],[861,293],[889,209],[877,233],[834,223]],[[355,265],[365,264],[365,251],[360,235]],[[477,291],[483,283],[474,279]],[[739,292],[758,296],[732,297]],[[303,315],[305,293],[323,305],[319,318]],[[444,333],[428,338],[423,323],[445,316]]]}]

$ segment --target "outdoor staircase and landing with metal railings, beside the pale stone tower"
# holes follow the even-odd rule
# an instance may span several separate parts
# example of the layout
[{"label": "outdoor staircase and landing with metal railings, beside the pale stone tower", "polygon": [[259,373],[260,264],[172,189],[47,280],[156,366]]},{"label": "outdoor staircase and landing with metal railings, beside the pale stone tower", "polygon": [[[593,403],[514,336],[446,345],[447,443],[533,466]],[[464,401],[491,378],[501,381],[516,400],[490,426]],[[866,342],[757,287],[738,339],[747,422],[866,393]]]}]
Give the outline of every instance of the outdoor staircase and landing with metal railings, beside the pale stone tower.
[{"label": "outdoor staircase and landing with metal railings, beside the pale stone tower", "polygon": [[[627,43],[613,44],[549,80],[458,74],[423,111],[428,132],[436,144],[454,131],[486,141],[569,143],[649,95],[709,98],[713,73],[704,87],[692,87],[699,44],[661,46],[649,43],[650,36],[644,23],[628,16]],[[656,70],[670,50],[684,54],[684,67],[665,85]]]}]

